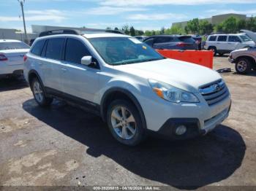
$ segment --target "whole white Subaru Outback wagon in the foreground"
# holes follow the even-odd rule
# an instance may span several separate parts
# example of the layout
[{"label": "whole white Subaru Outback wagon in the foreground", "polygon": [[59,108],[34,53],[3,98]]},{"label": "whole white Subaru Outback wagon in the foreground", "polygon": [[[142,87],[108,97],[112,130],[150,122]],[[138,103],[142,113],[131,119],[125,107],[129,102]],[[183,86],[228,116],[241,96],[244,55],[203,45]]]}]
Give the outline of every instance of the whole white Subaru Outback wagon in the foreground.
[{"label": "whole white Subaru Outback wagon in the foreground", "polygon": [[230,111],[229,90],[216,71],[164,58],[123,34],[39,37],[25,60],[39,106],[61,98],[99,114],[122,144],[136,145],[148,132],[204,135]]}]

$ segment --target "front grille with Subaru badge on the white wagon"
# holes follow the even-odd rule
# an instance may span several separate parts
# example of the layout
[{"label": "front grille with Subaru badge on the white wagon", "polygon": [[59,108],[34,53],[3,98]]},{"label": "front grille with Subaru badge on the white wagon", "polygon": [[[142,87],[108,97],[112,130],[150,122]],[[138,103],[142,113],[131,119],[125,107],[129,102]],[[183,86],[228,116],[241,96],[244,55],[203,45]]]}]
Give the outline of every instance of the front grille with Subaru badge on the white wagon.
[{"label": "front grille with Subaru badge on the white wagon", "polygon": [[229,95],[227,86],[222,79],[210,85],[200,87],[199,92],[203,95],[209,106],[217,104]]}]

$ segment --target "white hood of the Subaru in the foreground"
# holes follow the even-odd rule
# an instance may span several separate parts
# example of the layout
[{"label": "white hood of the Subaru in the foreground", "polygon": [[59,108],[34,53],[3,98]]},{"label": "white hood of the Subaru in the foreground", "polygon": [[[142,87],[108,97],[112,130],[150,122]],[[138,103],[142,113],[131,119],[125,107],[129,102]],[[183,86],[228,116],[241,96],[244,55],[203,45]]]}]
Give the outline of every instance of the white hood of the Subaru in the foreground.
[{"label": "white hood of the Subaru in the foreground", "polygon": [[145,79],[155,79],[192,93],[198,93],[202,85],[217,81],[222,77],[216,71],[173,59],[114,66],[119,71],[134,74]]}]

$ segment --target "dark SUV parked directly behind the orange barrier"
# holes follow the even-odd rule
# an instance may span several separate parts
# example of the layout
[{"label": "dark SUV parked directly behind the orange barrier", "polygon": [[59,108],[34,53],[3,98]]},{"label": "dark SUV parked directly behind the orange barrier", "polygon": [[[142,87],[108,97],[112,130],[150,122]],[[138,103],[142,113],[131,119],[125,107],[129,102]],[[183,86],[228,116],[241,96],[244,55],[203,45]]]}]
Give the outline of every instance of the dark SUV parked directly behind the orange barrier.
[{"label": "dark SUV parked directly behind the orange barrier", "polygon": [[157,35],[144,39],[143,42],[154,49],[167,50],[197,50],[198,44],[191,36],[184,35]]}]

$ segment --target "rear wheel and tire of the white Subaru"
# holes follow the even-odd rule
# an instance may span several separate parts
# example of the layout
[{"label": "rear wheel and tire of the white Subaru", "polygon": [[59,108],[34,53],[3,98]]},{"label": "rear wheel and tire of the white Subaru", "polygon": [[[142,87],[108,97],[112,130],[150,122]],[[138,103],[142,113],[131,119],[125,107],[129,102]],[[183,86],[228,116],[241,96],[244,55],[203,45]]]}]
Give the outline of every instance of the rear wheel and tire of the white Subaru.
[{"label": "rear wheel and tire of the white Subaru", "polygon": [[50,106],[50,104],[53,102],[53,98],[46,97],[42,83],[37,77],[34,77],[34,79],[32,79],[31,90],[34,95],[34,100],[37,101],[37,104],[39,106]]}]

